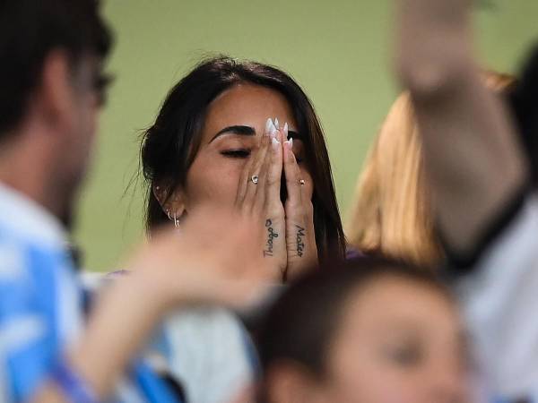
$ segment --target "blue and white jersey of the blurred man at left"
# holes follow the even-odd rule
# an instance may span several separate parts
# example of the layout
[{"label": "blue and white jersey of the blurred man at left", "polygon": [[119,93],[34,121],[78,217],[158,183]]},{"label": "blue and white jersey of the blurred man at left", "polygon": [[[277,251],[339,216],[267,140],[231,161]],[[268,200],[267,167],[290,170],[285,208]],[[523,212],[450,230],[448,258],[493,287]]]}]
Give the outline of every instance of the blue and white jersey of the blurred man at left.
[{"label": "blue and white jersey of the blurred man at left", "polygon": [[[23,402],[48,379],[82,330],[82,286],[61,224],[0,184],[0,401]],[[115,401],[175,402],[146,365],[134,365]],[[135,386],[134,386],[135,385]]]}]

